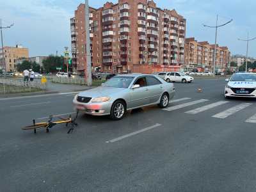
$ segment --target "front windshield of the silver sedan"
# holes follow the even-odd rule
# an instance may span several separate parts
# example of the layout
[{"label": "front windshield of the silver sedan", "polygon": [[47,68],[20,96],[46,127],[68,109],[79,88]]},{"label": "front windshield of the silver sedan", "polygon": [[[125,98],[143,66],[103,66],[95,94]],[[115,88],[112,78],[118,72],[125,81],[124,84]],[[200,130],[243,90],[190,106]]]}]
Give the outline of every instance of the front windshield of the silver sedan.
[{"label": "front windshield of the silver sedan", "polygon": [[104,87],[128,88],[134,77],[113,77],[103,84]]}]

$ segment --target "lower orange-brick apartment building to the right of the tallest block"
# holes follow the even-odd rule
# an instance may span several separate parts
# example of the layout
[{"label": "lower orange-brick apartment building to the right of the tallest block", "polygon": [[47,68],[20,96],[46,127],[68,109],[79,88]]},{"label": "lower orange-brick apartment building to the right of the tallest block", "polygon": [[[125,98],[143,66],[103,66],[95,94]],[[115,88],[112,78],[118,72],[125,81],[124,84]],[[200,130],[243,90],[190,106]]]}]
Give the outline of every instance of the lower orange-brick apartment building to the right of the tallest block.
[{"label": "lower orange-brick apartment building to the right of the tallest block", "polygon": [[[185,40],[185,63],[186,70],[197,68],[199,71],[213,70],[214,45],[208,42],[197,42],[195,38]],[[228,47],[216,46],[216,71],[223,72],[228,67],[230,52]]]}]

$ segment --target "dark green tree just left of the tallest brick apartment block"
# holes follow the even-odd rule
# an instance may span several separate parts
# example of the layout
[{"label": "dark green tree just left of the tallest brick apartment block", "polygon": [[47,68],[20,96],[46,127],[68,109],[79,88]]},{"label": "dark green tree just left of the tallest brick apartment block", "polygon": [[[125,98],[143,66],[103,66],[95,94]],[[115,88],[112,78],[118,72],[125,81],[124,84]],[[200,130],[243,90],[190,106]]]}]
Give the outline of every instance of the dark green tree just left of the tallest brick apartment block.
[{"label": "dark green tree just left of the tallest brick apartment block", "polygon": [[57,67],[63,68],[64,66],[64,58],[63,56],[53,56],[50,55],[46,60],[43,61],[44,72],[57,72]]}]

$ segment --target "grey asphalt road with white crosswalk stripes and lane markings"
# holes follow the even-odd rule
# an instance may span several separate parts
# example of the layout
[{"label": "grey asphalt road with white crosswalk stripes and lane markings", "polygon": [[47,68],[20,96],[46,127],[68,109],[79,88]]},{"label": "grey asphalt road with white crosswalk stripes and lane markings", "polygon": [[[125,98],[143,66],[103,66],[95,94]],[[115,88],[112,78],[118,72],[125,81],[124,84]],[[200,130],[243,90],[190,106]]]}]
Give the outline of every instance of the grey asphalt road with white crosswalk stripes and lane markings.
[{"label": "grey asphalt road with white crosswalk stripes and lane markings", "polygon": [[74,93],[0,99],[0,191],[256,191],[256,100],[225,100],[223,79],[175,86],[168,110],[79,115],[72,134],[20,128],[72,113]]}]

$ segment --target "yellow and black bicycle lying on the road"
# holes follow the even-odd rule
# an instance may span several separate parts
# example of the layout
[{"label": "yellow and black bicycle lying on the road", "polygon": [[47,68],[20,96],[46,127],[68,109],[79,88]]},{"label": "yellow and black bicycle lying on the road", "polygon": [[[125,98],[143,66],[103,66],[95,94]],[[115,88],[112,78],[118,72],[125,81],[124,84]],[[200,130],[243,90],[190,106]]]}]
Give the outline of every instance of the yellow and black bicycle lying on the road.
[{"label": "yellow and black bicycle lying on the road", "polygon": [[73,132],[74,127],[77,126],[76,119],[77,119],[77,116],[78,116],[78,112],[79,111],[77,111],[76,117],[74,119],[72,119],[71,115],[68,118],[58,117],[58,118],[60,118],[60,120],[57,120],[57,121],[52,121],[53,116],[50,115],[48,122],[40,122],[40,123],[36,123],[36,121],[34,119],[33,120],[33,125],[22,127],[22,130],[34,130],[34,133],[36,133],[36,129],[45,128],[46,132],[49,132],[49,129],[51,129],[55,125],[66,124],[66,127],[67,127],[68,124],[70,124],[71,128],[67,132],[69,134],[70,132]]}]

